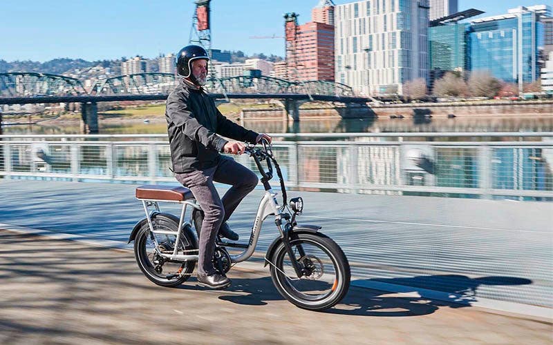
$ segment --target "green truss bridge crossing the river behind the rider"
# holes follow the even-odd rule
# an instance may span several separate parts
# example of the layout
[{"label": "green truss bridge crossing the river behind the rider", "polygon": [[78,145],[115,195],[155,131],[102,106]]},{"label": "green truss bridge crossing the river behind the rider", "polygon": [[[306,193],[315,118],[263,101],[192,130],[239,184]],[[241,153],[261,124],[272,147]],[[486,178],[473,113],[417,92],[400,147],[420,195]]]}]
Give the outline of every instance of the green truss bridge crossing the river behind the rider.
[{"label": "green truss bridge crossing the river behind the rider", "polygon": [[[82,103],[83,121],[97,132],[97,103],[167,99],[179,78],[169,73],[139,73],[100,79],[85,88],[79,79],[36,72],[0,73],[0,105],[28,103]],[[288,81],[272,77],[210,79],[205,85],[214,99],[279,99],[294,121],[307,101],[329,101],[366,108],[350,86],[333,81]],[[368,108],[367,108],[368,109]]]}]

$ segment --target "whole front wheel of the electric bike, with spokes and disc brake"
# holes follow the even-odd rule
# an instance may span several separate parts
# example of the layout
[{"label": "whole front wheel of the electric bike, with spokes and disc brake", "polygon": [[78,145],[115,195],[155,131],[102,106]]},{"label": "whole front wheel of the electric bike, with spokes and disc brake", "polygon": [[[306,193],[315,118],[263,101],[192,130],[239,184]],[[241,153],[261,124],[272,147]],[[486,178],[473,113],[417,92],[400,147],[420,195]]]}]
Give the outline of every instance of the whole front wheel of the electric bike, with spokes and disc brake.
[{"label": "whole front wheel of the electric bike, with spokes and disc brake", "polygon": [[271,278],[279,293],[300,308],[323,311],[348,292],[350,265],[341,248],[321,233],[299,233],[290,239],[292,251],[306,275],[298,278],[284,244],[271,257]]}]

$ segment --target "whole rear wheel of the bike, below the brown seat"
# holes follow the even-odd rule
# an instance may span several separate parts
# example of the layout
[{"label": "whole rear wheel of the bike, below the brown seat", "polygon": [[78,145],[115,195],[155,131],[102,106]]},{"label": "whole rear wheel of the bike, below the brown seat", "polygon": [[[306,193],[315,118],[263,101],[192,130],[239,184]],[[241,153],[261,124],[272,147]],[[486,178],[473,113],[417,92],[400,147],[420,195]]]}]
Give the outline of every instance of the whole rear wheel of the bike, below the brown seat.
[{"label": "whole rear wheel of the bike, below the brown seat", "polygon": [[[154,230],[171,231],[175,235],[154,235],[148,223],[145,223],[138,231],[134,242],[138,267],[148,279],[160,286],[178,286],[190,277],[196,262],[191,260],[174,262],[159,255],[159,253],[173,253],[176,246],[178,219],[172,219],[167,215],[156,215],[151,221]],[[185,254],[183,250],[197,249],[194,239],[189,237],[189,232],[185,228],[182,229],[179,242],[178,254]],[[186,254],[197,254],[197,252]]]}]

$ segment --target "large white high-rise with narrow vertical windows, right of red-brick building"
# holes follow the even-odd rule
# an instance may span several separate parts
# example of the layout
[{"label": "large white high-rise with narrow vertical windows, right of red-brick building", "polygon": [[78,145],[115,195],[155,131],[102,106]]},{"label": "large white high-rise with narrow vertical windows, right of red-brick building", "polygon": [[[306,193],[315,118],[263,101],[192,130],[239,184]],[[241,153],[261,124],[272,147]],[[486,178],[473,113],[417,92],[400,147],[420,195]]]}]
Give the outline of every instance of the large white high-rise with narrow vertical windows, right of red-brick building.
[{"label": "large white high-rise with narrow vertical windows, right of red-brick building", "polygon": [[428,0],[357,1],[335,8],[335,80],[364,95],[403,93],[428,79]]}]

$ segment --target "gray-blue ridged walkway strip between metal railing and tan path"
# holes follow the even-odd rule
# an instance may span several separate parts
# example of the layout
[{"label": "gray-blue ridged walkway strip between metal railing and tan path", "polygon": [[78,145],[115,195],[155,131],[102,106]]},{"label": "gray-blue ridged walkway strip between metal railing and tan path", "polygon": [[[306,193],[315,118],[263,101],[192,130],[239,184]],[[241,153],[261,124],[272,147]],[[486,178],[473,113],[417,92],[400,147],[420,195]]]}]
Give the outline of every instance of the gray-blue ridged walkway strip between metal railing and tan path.
[{"label": "gray-blue ridged walkway strip between metal railing and tan path", "polygon": [[[144,217],[134,189],[0,180],[0,228],[24,226],[124,247]],[[244,242],[262,192],[248,196],[231,219]],[[306,203],[299,221],[323,226],[344,248],[354,284],[409,286],[420,295],[437,290],[464,304],[487,298],[553,308],[553,203],[290,192],[299,194]],[[276,236],[267,221],[260,254]]]}]

